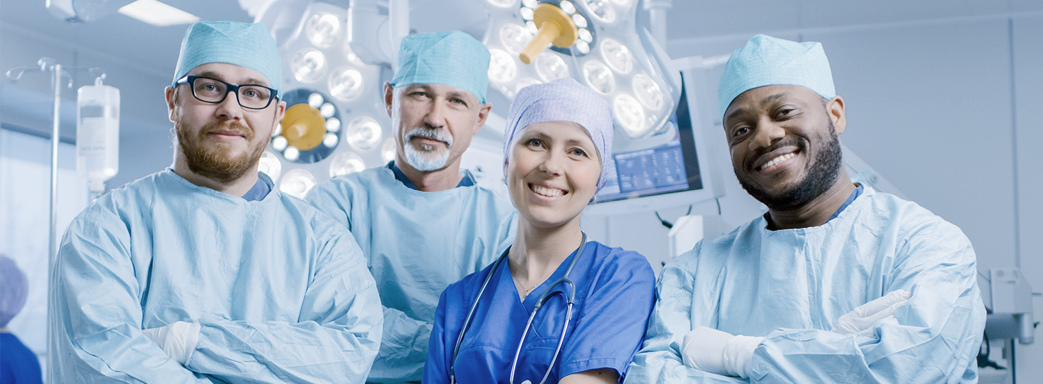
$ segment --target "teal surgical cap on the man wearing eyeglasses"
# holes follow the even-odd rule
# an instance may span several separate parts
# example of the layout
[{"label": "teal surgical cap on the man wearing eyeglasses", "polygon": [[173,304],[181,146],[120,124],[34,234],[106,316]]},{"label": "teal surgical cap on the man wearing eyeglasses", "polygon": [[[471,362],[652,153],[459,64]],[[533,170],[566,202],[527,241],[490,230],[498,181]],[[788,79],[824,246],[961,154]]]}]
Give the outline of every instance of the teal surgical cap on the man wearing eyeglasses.
[{"label": "teal surgical cap on the man wearing eyeglasses", "polygon": [[174,82],[203,64],[227,63],[258,71],[276,90],[283,86],[283,67],[275,39],[263,23],[201,21],[181,40]]}]

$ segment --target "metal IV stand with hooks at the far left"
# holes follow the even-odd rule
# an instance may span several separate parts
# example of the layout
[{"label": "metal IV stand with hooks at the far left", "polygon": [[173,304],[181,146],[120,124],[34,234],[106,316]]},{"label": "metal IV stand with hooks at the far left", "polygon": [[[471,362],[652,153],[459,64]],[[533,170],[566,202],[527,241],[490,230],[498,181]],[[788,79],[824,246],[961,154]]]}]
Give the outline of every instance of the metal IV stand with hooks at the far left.
[{"label": "metal IV stand with hooks at the far left", "polygon": [[[54,109],[52,116],[52,126],[51,126],[51,206],[50,206],[50,236],[48,237],[47,243],[47,279],[50,280],[51,272],[54,270],[54,261],[57,259],[57,190],[58,190],[58,126],[60,125],[60,110],[62,106],[62,78],[63,76],[69,78],[66,83],[66,88],[72,88],[72,75],[66,70],[87,70],[92,75],[100,78],[105,78],[105,71],[100,68],[90,68],[90,67],[63,67],[57,61],[49,57],[41,57],[37,62],[37,67],[18,67],[11,68],[7,71],[7,78],[11,82],[18,81],[22,78],[25,72],[48,72],[53,73],[51,77],[51,85],[53,86],[54,98]],[[50,286],[50,284],[48,284]]]}]

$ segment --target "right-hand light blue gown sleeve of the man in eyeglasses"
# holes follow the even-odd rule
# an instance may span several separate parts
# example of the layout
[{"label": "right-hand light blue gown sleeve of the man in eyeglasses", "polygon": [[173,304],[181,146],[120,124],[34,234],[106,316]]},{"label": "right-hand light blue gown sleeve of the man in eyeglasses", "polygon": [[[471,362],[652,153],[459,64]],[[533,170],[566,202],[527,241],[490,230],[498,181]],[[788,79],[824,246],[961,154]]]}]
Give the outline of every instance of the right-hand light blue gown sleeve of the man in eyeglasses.
[{"label": "right-hand light blue gown sleeve of the man in eyeglasses", "polygon": [[[318,217],[318,216],[317,216]],[[192,370],[251,383],[363,383],[381,342],[375,283],[358,244],[343,227],[313,219],[318,267],[298,322],[198,319]],[[278,287],[269,287],[277,291]]]}]

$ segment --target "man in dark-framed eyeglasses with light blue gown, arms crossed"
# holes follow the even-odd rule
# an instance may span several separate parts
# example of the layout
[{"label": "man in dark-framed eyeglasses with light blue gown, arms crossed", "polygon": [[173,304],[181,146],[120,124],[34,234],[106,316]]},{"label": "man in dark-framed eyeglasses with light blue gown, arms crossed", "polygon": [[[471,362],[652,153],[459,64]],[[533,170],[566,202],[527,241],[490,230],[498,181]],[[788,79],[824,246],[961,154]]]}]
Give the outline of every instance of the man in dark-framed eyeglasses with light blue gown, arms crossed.
[{"label": "man in dark-framed eyeglasses with light blue gown, arms crossed", "polygon": [[49,292],[51,383],[361,383],[375,283],[343,227],[258,173],[286,102],[262,24],[200,22],[166,89],[174,164],[70,224]]}]

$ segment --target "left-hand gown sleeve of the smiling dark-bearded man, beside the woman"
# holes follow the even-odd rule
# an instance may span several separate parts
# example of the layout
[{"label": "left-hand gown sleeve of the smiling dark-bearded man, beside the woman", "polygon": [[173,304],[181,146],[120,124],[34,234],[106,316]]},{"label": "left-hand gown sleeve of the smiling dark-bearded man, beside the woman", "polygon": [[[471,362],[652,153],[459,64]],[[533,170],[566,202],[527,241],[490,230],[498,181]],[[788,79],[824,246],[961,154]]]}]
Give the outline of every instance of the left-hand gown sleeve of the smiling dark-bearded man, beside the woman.
[{"label": "left-hand gown sleeve of the smiling dark-bearded man, beside the woman", "polygon": [[[696,245],[699,249],[699,245]],[[668,264],[656,284],[656,303],[645,331],[645,343],[627,373],[627,384],[647,383],[747,383],[746,379],[721,376],[684,365],[681,341],[692,325],[693,275],[676,264]]]}]

